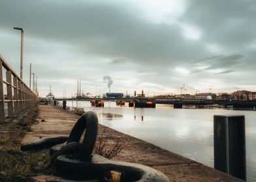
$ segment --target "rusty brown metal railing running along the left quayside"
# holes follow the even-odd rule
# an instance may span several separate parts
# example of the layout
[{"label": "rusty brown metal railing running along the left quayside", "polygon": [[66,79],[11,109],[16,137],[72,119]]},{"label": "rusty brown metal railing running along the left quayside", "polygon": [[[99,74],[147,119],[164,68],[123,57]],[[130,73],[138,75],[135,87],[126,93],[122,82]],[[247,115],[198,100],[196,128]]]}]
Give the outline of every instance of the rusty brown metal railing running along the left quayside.
[{"label": "rusty brown metal railing running along the left quayside", "polygon": [[[5,75],[3,75],[5,73]],[[0,123],[31,107],[38,97],[0,55]]]}]

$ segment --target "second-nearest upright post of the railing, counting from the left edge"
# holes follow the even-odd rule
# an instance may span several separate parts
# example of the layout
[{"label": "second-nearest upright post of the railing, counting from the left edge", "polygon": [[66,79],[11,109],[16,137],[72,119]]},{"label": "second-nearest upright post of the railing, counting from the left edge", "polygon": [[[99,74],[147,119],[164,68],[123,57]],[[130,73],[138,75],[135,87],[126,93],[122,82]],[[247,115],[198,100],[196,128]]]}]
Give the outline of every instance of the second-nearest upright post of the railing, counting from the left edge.
[{"label": "second-nearest upright post of the railing, counting from the left edge", "polygon": [[12,99],[12,72],[7,71],[6,72],[7,75],[7,99],[8,101],[8,117],[13,117],[14,113],[13,113],[13,99]]}]

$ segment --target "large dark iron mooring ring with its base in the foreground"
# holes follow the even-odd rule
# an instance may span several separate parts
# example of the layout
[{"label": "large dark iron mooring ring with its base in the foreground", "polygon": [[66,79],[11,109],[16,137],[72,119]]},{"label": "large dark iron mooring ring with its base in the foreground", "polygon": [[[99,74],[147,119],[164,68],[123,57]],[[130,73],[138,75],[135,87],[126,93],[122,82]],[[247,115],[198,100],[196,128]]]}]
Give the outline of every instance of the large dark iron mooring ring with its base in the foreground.
[{"label": "large dark iron mooring ring with its base in the foreground", "polygon": [[[86,129],[86,133],[82,146],[80,146],[79,141],[84,129]],[[131,162],[110,161],[100,155],[91,157],[97,133],[97,115],[94,112],[84,113],[72,128],[67,145],[52,156],[52,163],[66,174],[82,175],[90,179],[104,177],[106,172],[116,171],[121,173],[121,181],[169,181],[164,174],[148,166]],[[78,159],[70,159],[69,154],[75,153],[78,153]]]}]

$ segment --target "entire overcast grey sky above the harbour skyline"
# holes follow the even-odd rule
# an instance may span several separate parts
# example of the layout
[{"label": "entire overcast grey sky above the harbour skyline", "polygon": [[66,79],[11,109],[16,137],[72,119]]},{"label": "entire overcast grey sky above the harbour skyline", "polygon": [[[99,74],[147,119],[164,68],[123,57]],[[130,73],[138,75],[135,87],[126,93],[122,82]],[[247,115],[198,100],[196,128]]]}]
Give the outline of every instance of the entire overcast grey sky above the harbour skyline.
[{"label": "entire overcast grey sky above the harbour skyline", "polygon": [[[255,0],[0,0],[0,54],[45,96],[256,90]],[[29,85],[29,84],[27,84]]]}]

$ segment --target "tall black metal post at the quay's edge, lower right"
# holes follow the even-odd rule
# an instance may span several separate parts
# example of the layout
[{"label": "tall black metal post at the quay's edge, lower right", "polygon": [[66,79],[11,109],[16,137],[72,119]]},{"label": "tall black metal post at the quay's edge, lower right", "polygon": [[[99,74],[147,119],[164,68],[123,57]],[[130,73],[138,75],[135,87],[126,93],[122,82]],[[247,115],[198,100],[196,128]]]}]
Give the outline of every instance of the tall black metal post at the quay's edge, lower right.
[{"label": "tall black metal post at the quay's edge, lower right", "polygon": [[246,180],[244,116],[214,116],[214,168]]}]

